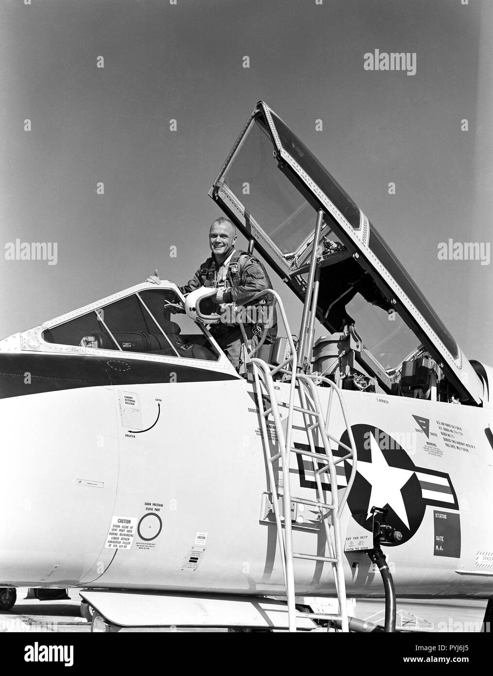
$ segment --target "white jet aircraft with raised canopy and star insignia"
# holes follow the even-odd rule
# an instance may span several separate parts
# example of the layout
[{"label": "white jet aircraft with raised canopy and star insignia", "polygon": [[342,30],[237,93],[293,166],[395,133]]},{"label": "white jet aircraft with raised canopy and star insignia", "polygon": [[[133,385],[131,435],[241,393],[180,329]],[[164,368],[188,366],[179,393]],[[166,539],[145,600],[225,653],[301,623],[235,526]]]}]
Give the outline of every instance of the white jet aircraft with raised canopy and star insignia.
[{"label": "white jet aircraft with raised canopy and star insignia", "polygon": [[260,293],[279,337],[238,373],[213,291],[161,281],[0,341],[1,587],[80,587],[94,631],[309,631],[301,596],[378,631],[347,595],[393,631],[396,596],[492,598],[493,369],[263,101],[209,195],[301,327]]}]

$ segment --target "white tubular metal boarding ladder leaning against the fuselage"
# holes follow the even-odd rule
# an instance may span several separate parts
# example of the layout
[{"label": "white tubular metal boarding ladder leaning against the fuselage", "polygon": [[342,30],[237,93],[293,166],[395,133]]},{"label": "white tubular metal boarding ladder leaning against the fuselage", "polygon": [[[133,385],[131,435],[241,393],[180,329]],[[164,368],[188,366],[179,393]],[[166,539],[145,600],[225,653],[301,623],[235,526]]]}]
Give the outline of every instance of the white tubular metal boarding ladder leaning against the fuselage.
[{"label": "white tubular metal boarding ladder leaning against the fuselage", "polygon": [[[294,341],[292,340],[292,335],[288,325],[288,320],[286,318],[286,313],[284,311],[284,306],[282,300],[278,293],[268,289],[266,291],[261,291],[256,294],[252,300],[260,298],[269,293],[274,297],[274,302],[278,304],[278,311],[284,323],[284,329],[286,330],[286,335],[288,336],[288,343],[290,346],[290,354],[278,366],[270,366],[262,359],[255,357],[255,352],[257,348],[251,350],[249,354],[249,363],[251,364],[251,370],[253,372],[253,379],[255,383],[255,393],[257,395],[257,402],[259,406],[259,414],[261,420],[261,432],[263,438],[263,448],[265,452],[265,458],[267,461],[267,470],[269,476],[269,487],[272,498],[272,507],[274,514],[276,516],[276,528],[278,533],[278,543],[281,552],[281,561],[282,561],[282,571],[284,573],[284,582],[286,586],[286,597],[288,602],[288,620],[289,620],[289,631],[296,631],[296,617],[298,612],[295,607],[295,580],[294,580],[294,559],[308,559],[313,561],[323,561],[332,566],[332,573],[334,575],[334,584],[336,587],[336,593],[338,598],[338,613],[335,614],[315,614],[315,613],[303,613],[303,617],[311,617],[312,619],[327,619],[333,621],[336,626],[340,626],[342,631],[348,631],[348,614],[347,614],[347,604],[346,604],[346,587],[344,583],[344,570],[343,570],[343,556],[344,548],[342,545],[342,537],[340,532],[340,516],[346,500],[348,498],[348,493],[351,491],[353,485],[354,477],[356,474],[356,463],[357,463],[357,452],[355,447],[355,440],[353,433],[351,431],[351,424],[348,420],[348,414],[346,411],[346,406],[344,404],[344,399],[342,397],[342,391],[337,385],[332,383],[328,378],[319,377],[318,375],[309,375],[303,372],[299,372],[298,369],[298,358],[296,354],[296,349],[294,346]],[[244,327],[240,324],[240,328],[244,337],[245,343],[247,343],[247,336],[244,331]],[[265,334],[264,334],[265,335]],[[276,373],[281,372],[286,376],[287,379],[290,379],[290,395],[288,401],[288,418],[286,425],[286,431],[282,426],[282,421],[279,412],[279,404],[276,399],[276,390],[274,388],[273,376]],[[323,414],[321,410],[321,402],[319,400],[319,395],[317,391],[317,383],[324,383],[330,387],[328,408],[326,414]],[[269,397],[270,404],[268,408],[264,407],[265,391]],[[299,403],[301,406],[295,405],[296,391],[299,392]],[[344,423],[348,431],[348,439],[351,446],[341,443],[338,439],[332,436],[329,433],[330,425],[330,412],[332,410],[332,400],[334,398],[334,393],[338,397],[338,402],[340,404],[342,415],[344,416]],[[292,423],[293,423],[293,414],[294,412],[299,412],[303,414],[304,429],[308,438],[308,450],[300,450],[299,448],[294,448],[292,445]],[[273,452],[271,450],[271,437],[267,431],[267,425],[269,424],[269,416],[274,422],[274,426],[277,434],[277,448]],[[318,441],[321,442],[318,445],[323,446],[325,454],[315,452],[315,433],[318,436]],[[330,441],[334,441],[339,446],[342,446],[346,451],[346,455],[342,458],[336,458],[332,455],[332,448],[330,446]],[[313,469],[315,475],[315,482],[317,485],[316,500],[309,500],[307,498],[301,498],[291,495],[290,490],[290,454],[299,454],[301,456],[307,456],[312,459]],[[336,476],[336,465],[344,462],[344,460],[352,459],[352,470],[351,476],[348,479],[348,485],[344,490],[342,498],[338,498],[337,490],[337,476]],[[282,464],[282,489],[278,488],[276,484],[276,479],[274,477],[274,468],[273,463],[276,460],[280,460]],[[327,498],[324,496],[326,489],[322,487],[321,475],[324,473],[330,476],[330,501],[327,502]],[[280,511],[280,501],[282,500],[283,509],[281,514]],[[323,524],[324,533],[326,535],[326,541],[328,545],[328,556],[318,556],[315,554],[307,554],[303,552],[297,552],[293,550],[293,541],[292,541],[292,522],[290,518],[292,504],[303,504],[307,506],[316,507],[319,510],[320,521]],[[329,623],[330,624],[330,623]]]}]

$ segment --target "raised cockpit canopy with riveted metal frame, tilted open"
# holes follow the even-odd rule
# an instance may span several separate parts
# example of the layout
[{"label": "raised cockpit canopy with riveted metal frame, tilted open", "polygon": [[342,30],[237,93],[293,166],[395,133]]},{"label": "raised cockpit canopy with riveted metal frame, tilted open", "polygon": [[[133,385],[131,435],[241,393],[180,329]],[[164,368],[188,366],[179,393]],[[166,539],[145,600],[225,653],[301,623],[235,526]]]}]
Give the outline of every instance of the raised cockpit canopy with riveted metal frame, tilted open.
[{"label": "raised cockpit canopy with riveted metal frame, tilted open", "polygon": [[[421,343],[464,401],[481,402],[479,378],[403,265],[353,199],[263,101],[209,195],[302,300],[311,250],[319,247],[317,318],[331,333],[355,323],[386,370],[397,368]],[[314,243],[319,209],[323,227]]]}]

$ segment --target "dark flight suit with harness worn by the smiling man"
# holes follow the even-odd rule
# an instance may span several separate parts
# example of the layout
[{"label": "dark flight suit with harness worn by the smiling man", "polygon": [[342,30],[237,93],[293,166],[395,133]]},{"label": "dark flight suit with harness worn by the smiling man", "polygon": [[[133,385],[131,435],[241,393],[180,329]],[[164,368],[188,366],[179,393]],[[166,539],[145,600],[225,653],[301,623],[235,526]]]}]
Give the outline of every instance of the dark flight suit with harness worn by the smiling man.
[{"label": "dark flight suit with harness worn by the smiling man", "polygon": [[[229,257],[228,257],[229,258]],[[245,251],[233,251],[229,260],[226,258],[224,264],[219,265],[214,256],[207,258],[188,283],[180,287],[182,293],[190,293],[199,287],[226,288],[223,294],[223,304],[234,303],[236,306],[248,307],[259,304],[249,303],[249,300],[255,293],[263,289],[271,289],[271,281],[263,265],[253,256]],[[272,306],[271,297],[267,297],[263,307],[267,312]],[[213,301],[205,301],[201,306],[204,314],[213,314],[220,311],[217,304]],[[244,323],[245,333],[255,347],[258,343],[258,336],[261,333],[256,324]],[[217,344],[224,350],[226,356],[238,370],[240,365],[240,349],[242,345],[242,333],[238,324],[212,324],[209,331],[213,335]],[[276,340],[278,333],[276,311],[273,312],[273,323],[267,332],[266,342],[272,343]]]}]

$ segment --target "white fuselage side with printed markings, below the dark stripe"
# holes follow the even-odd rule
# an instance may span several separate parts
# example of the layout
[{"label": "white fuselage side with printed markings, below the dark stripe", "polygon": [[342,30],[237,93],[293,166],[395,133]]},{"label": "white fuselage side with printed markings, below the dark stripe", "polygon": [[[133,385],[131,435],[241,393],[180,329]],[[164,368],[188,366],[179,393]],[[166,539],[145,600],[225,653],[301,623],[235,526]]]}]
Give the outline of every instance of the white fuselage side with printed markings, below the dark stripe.
[{"label": "white fuselage side with printed markings, below the dark stripe", "polygon": [[[277,387],[278,401],[286,402],[288,385]],[[328,389],[319,391],[326,404]],[[375,428],[373,437],[384,431],[398,441],[399,457],[404,449],[417,468],[413,475],[412,467],[392,467],[394,449],[384,442],[380,454],[368,437],[372,462],[362,450],[352,491],[367,486],[363,477],[370,500],[388,500],[411,530],[413,518],[417,523],[407,541],[384,548],[397,594],[489,596],[490,412],[353,391],[344,400],[351,425]],[[82,387],[1,400],[0,585],[283,594],[276,525],[260,521],[269,488],[256,411],[244,379]],[[345,429],[334,404],[329,431],[340,439]],[[293,435],[294,443],[307,443],[301,414]],[[314,499],[304,472],[292,454],[292,494]],[[409,490],[398,485],[411,475],[414,491],[415,477],[421,481],[417,498],[412,482]],[[416,500],[421,521],[411,513]],[[317,515],[299,516],[294,549],[323,554]],[[348,594],[382,595],[366,554],[347,552],[344,570]],[[296,560],[294,573],[297,594],[334,594],[330,564]]]}]

